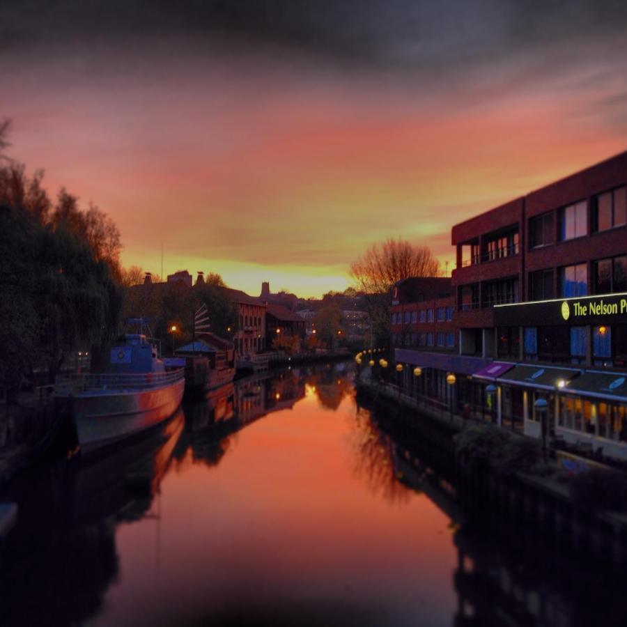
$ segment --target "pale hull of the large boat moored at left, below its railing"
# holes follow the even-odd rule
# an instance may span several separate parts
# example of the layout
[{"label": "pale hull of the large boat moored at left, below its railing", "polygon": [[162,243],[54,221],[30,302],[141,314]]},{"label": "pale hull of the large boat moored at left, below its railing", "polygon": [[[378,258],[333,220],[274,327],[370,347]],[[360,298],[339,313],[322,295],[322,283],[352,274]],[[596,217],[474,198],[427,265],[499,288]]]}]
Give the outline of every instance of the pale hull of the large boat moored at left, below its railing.
[{"label": "pale hull of the large boat moored at left, below its railing", "polygon": [[79,445],[89,454],[146,431],[173,415],[183,399],[185,380],[130,392],[84,392],[72,398]]}]

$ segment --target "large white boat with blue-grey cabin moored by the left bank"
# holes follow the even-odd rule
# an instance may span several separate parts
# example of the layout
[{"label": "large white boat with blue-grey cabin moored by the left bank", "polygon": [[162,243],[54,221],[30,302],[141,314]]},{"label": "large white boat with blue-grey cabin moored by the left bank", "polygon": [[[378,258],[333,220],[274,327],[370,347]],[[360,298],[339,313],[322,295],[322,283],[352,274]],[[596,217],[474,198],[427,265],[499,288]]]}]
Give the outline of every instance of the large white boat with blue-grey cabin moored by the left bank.
[{"label": "large white boat with blue-grey cabin moored by the left bank", "polygon": [[78,375],[55,394],[68,403],[86,454],[170,417],[184,389],[185,371],[166,371],[153,343],[135,333],[111,349],[111,372]]}]

